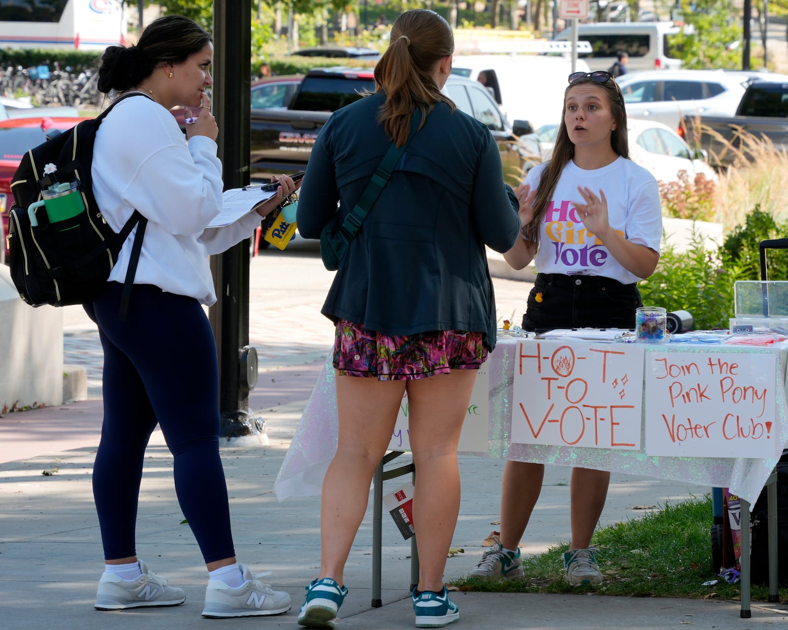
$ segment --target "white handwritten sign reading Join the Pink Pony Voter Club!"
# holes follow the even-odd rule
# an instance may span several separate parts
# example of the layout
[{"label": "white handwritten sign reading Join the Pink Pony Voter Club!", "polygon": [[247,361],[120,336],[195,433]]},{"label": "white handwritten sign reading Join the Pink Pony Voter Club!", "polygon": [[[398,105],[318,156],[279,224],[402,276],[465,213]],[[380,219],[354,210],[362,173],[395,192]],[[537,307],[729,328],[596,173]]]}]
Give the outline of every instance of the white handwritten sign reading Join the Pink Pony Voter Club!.
[{"label": "white handwritten sign reading Join the Pink Pony Voter Club!", "polygon": [[645,452],[772,458],[775,354],[647,352]]}]

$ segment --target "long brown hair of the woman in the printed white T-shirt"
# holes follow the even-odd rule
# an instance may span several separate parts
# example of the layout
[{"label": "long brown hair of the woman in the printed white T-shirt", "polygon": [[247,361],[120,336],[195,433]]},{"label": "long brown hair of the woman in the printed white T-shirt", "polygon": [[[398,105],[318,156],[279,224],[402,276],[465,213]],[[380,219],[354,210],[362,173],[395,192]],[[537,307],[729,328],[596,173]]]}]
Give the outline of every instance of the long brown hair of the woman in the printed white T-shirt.
[{"label": "long brown hair of the woman in the printed white T-shirt", "polygon": [[608,105],[610,106],[611,113],[613,114],[613,121],[615,122],[615,129],[610,136],[610,145],[622,158],[626,158],[627,160],[630,158],[629,139],[626,135],[626,109],[624,108],[624,97],[618,83],[615,83],[615,79],[611,77],[605,83],[596,83],[591,80],[590,76],[582,76],[580,79],[570,83],[563,92],[561,124],[558,128],[556,144],[552,150],[552,158],[550,158],[547,168],[541,174],[539,186],[537,187],[537,196],[533,200],[533,219],[523,228],[523,235],[530,241],[539,240],[539,226],[542,221],[545,220],[548,202],[553,192],[556,191],[556,185],[563,172],[563,167],[567,165],[568,161],[574,158],[574,143],[569,139],[569,132],[567,132],[564,114],[567,112],[567,96],[569,96],[569,91],[573,87],[584,83],[593,83],[593,85],[604,91],[604,95],[608,98]]}]

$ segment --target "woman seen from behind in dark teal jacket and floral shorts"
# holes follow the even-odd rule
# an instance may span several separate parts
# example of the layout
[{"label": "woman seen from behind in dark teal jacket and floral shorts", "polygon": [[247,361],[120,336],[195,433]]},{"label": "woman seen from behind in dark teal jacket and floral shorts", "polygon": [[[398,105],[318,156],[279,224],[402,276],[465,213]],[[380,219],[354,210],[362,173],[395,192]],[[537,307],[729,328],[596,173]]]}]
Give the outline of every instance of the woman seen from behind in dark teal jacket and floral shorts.
[{"label": "woman seen from behind in dark teal jacket and floral shorts", "polygon": [[402,13],[375,66],[374,94],[333,113],[304,178],[299,233],[316,239],[336,202],[344,219],[390,147],[408,143],[322,309],[336,324],[339,437],[322,486],[320,573],[298,618],[309,628],[333,628],[348,594],[345,561],[406,392],[418,470],[416,626],[459,620],[443,573],[459,511],[459,434],[477,370],[496,343],[485,245],[510,249],[520,221],[489,129],[441,91],[453,51],[443,17]]}]

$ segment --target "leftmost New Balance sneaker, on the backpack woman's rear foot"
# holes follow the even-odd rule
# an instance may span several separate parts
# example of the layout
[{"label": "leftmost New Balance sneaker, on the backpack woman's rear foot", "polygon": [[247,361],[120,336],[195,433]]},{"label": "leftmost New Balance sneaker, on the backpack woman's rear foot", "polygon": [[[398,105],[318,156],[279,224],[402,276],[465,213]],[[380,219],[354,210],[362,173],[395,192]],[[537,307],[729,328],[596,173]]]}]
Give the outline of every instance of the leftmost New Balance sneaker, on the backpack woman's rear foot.
[{"label": "leftmost New Balance sneaker, on the backpack woman's rear foot", "polygon": [[96,610],[123,610],[143,606],[177,606],[186,601],[182,588],[167,586],[167,578],[148,571],[140,560],[143,572],[136,580],[121,580],[114,573],[103,573],[96,593]]}]

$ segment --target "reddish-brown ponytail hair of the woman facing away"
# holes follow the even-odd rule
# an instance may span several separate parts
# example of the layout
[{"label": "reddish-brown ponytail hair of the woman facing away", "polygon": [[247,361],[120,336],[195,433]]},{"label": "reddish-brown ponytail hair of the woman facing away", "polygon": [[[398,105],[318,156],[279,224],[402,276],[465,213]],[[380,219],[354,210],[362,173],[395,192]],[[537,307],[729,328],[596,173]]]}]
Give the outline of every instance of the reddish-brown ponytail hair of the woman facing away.
[{"label": "reddish-brown ponytail hair of the woman facing away", "polygon": [[434,11],[411,9],[394,22],[390,42],[375,66],[375,92],[386,95],[377,122],[396,146],[402,146],[411,132],[414,109],[422,110],[422,125],[437,102],[455,110],[452,99],[441,93],[432,76],[438,62],[454,52],[454,35],[448,22]]}]

